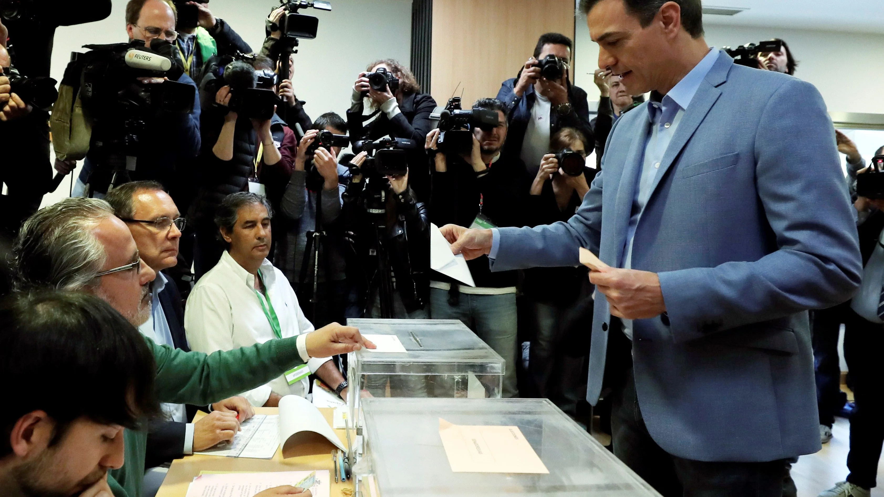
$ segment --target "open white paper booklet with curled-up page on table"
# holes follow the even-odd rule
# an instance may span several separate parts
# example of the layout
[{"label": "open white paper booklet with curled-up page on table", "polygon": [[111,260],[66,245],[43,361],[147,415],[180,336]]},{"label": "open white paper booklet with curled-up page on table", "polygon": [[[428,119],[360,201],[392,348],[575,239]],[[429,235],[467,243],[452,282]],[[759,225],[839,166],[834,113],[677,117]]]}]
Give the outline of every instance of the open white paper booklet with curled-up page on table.
[{"label": "open white paper booklet with curled-up page on table", "polygon": [[297,395],[286,395],[279,401],[278,416],[256,414],[240,427],[242,431],[232,443],[221,442],[196,454],[271,459],[280,440],[284,455],[328,454],[328,442],[347,450],[319,409]]}]

